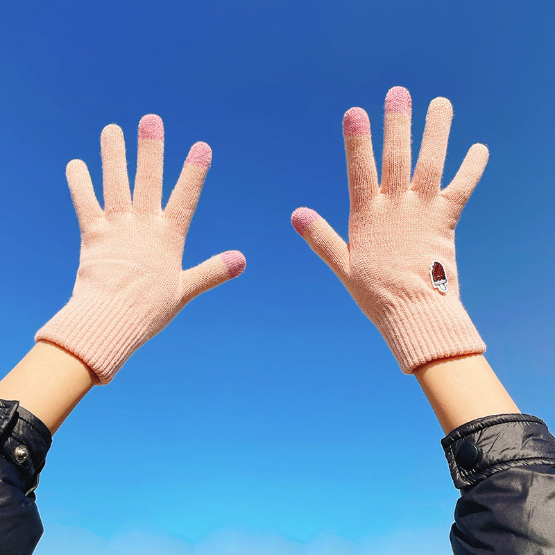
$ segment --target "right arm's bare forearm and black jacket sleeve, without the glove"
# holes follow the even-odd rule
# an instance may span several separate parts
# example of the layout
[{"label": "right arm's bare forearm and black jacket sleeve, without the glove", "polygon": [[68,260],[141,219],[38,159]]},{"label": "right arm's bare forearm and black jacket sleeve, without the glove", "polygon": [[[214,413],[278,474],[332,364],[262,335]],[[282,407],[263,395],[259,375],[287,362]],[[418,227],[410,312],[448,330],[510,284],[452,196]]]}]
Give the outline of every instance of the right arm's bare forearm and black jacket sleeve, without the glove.
[{"label": "right arm's bare forearm and black jacket sleeve, without the glove", "polygon": [[414,375],[445,434],[461,490],[455,555],[555,555],[555,438],[521,414],[483,355],[433,361]]}]

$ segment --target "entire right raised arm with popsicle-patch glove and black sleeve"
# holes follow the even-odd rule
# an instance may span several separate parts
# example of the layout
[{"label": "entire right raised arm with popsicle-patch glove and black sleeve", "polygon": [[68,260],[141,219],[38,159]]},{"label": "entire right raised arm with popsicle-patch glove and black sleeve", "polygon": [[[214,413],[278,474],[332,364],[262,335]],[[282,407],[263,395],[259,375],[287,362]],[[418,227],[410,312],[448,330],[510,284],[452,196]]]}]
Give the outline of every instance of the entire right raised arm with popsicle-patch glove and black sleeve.
[{"label": "entire right raised arm with popsicle-patch glove and black sleeve", "polygon": [[309,208],[291,222],[382,333],[401,370],[416,376],[447,434],[441,445],[461,490],[454,554],[555,555],[555,438],[511,400],[459,298],[454,228],[488,150],[472,146],[441,189],[452,108],[434,99],[411,178],[410,118],[409,92],[393,87],[378,185],[368,116],[361,108],[345,114],[348,242]]}]

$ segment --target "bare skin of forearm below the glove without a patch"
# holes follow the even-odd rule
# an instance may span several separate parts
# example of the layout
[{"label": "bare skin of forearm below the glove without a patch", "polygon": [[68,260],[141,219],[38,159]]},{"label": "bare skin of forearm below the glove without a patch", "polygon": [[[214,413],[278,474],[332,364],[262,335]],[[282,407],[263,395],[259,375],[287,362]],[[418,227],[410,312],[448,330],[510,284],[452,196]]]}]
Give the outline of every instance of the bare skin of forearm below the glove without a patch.
[{"label": "bare skin of forearm below the glove without a patch", "polygon": [[0,398],[18,400],[54,434],[97,383],[94,373],[74,355],[48,341],[38,341],[1,380]]}]

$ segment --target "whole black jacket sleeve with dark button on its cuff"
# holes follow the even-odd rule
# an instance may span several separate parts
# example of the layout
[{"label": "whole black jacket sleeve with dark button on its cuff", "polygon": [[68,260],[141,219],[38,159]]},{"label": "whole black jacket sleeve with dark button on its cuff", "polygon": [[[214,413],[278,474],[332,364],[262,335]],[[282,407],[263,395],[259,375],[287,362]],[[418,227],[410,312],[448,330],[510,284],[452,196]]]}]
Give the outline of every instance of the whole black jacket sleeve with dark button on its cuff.
[{"label": "whole black jacket sleeve with dark button on its cuff", "polygon": [[529,414],[466,422],[441,440],[456,502],[454,555],[555,555],[555,438]]}]

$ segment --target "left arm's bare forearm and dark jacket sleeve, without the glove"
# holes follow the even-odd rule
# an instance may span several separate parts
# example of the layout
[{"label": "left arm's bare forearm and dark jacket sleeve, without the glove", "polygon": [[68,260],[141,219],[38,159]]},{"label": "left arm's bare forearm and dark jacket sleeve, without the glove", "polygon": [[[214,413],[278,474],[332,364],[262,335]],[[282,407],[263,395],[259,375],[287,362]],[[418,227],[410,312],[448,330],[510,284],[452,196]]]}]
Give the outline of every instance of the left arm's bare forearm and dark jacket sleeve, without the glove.
[{"label": "left arm's bare forearm and dark jacket sleeve, without the glove", "polygon": [[35,488],[52,436],[96,383],[86,364],[39,341],[0,382],[0,555],[33,553]]}]

